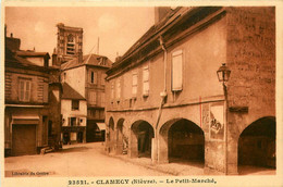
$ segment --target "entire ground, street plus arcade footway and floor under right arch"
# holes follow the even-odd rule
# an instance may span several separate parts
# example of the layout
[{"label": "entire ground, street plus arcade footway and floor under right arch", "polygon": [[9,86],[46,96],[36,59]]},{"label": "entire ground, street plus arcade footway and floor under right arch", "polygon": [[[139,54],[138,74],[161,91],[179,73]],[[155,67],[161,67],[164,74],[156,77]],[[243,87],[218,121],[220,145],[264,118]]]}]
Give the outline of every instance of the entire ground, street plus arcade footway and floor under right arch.
[{"label": "entire ground, street plus arcade footway and floor under right arch", "polygon": [[[130,158],[104,152],[103,142],[64,146],[47,154],[4,159],[7,177],[30,176],[188,176],[204,175],[204,163],[175,160],[152,164],[150,158]],[[239,167],[239,175],[274,175],[275,170]],[[213,175],[213,174],[212,174]]]}]

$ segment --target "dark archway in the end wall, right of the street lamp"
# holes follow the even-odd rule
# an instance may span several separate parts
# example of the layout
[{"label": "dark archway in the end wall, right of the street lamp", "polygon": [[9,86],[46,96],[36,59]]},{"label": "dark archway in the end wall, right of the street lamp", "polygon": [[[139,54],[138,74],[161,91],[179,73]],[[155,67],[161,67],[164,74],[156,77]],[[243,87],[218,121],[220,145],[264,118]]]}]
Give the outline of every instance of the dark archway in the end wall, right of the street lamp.
[{"label": "dark archway in the end wall, right of the street lamp", "polygon": [[274,117],[259,119],[246,127],[238,138],[238,165],[275,169],[275,135]]}]

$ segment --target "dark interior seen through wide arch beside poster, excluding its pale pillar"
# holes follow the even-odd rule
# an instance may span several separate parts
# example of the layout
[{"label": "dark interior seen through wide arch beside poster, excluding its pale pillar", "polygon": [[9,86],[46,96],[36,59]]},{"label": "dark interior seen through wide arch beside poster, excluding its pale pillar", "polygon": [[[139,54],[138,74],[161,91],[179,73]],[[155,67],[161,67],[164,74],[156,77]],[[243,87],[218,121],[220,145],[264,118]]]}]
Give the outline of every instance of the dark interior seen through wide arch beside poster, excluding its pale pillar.
[{"label": "dark interior seen through wide arch beside poster, excluding its pale pillar", "polygon": [[168,132],[169,162],[205,162],[205,136],[200,127],[187,120],[172,124]]}]

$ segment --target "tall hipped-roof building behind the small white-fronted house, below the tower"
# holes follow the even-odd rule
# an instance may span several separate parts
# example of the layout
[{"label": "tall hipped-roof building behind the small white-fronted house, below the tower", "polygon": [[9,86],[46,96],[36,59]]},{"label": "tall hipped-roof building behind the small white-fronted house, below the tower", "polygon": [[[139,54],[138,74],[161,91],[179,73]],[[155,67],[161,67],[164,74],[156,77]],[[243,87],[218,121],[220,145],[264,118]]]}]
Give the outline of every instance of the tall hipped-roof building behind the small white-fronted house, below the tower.
[{"label": "tall hipped-roof building behind the small white-fronted house, below the tower", "polygon": [[[87,117],[84,123],[86,134],[83,138],[87,142],[103,140],[104,137],[104,78],[106,71],[111,64],[112,62],[106,57],[87,54],[83,57],[81,62],[74,59],[61,65],[62,82],[70,85],[73,92],[75,91],[77,96],[81,96],[77,99],[86,100],[84,103],[85,110],[82,112]],[[64,96],[65,91],[63,90],[63,92]],[[63,108],[65,107],[62,101],[63,120],[66,122]]]}]

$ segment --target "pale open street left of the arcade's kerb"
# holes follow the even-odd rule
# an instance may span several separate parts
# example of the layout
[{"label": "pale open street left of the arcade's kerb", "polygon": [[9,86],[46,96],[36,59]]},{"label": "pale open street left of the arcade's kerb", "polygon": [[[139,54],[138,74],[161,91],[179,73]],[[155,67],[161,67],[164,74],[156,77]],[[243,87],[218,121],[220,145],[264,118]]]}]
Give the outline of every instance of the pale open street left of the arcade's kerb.
[{"label": "pale open street left of the arcade's kerb", "polygon": [[109,157],[101,142],[67,145],[47,154],[5,158],[4,174],[5,177],[170,176]]}]

